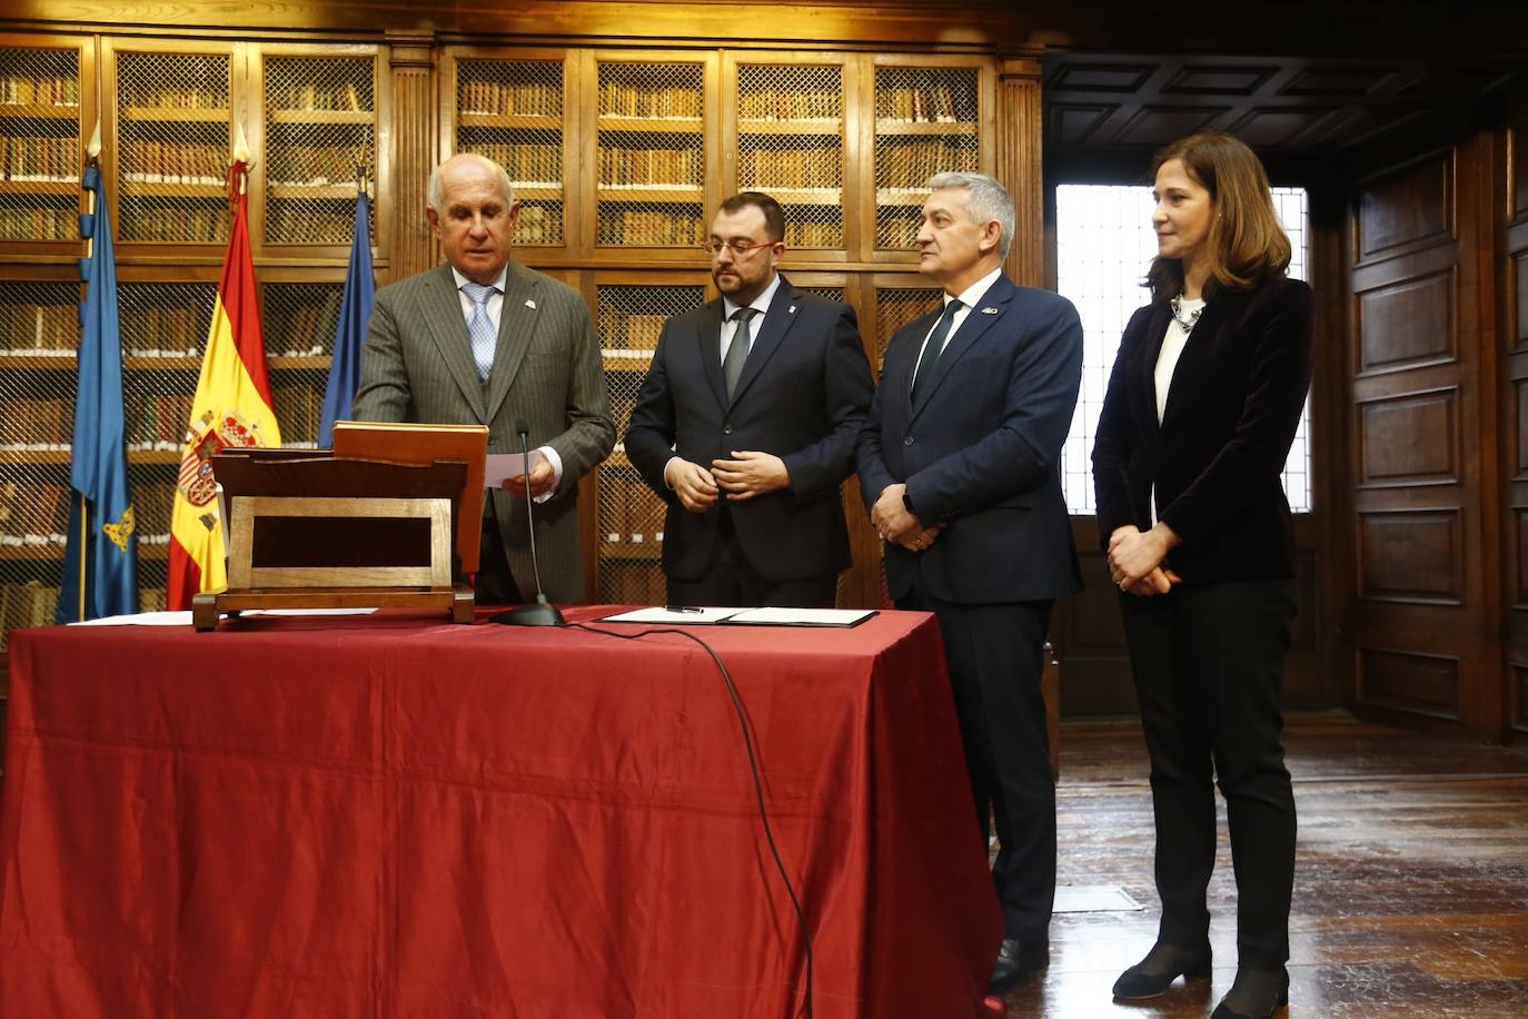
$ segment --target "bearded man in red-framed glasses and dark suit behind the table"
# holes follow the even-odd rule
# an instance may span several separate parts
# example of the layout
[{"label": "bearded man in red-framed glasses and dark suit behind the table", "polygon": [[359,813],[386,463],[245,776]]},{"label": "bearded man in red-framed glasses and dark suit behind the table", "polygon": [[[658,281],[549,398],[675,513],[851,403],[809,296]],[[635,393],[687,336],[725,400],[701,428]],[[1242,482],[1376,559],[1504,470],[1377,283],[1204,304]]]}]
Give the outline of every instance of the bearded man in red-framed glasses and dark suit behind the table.
[{"label": "bearded man in red-framed glasses and dark suit behind the table", "polygon": [[631,412],[675,605],[831,607],[850,565],[839,484],[874,382],[854,309],[779,275],[784,237],[767,194],[721,203],[704,244],[721,296],[665,324]]}]

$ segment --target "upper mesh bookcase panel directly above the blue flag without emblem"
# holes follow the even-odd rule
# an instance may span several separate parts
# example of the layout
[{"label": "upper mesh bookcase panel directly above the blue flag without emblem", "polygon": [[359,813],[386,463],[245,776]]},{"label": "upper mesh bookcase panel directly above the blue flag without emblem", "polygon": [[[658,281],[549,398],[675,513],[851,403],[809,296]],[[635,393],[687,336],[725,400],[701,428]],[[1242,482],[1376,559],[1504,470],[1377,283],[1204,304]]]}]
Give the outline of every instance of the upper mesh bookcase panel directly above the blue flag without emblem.
[{"label": "upper mesh bookcase panel directly above the blue flag without emblem", "polygon": [[377,58],[263,52],[260,70],[264,243],[348,247],[358,185],[377,173]]}]

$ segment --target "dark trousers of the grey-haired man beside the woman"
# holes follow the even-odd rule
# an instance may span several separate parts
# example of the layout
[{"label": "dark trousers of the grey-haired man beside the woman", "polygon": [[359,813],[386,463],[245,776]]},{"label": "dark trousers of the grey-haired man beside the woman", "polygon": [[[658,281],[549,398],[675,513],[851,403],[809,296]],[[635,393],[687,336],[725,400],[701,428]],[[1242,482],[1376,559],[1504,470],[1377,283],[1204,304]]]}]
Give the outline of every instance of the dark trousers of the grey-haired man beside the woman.
[{"label": "dark trousers of the grey-haired man beside the woman", "polygon": [[996,822],[992,882],[1004,937],[1027,943],[1048,937],[1056,904],[1056,776],[1041,697],[1051,605],[957,605],[931,594],[921,577],[897,602],[938,619],[983,852],[989,814]]}]

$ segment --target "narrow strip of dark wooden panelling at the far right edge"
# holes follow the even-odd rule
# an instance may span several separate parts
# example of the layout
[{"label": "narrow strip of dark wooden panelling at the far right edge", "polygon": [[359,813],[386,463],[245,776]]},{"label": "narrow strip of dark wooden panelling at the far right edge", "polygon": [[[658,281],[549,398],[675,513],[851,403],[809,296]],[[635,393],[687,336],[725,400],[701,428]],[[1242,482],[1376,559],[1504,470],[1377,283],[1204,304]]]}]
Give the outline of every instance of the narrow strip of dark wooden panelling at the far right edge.
[{"label": "narrow strip of dark wooden panelling at the far right edge", "polygon": [[1528,742],[1528,121],[1505,131],[1502,243],[1502,524],[1505,729]]}]

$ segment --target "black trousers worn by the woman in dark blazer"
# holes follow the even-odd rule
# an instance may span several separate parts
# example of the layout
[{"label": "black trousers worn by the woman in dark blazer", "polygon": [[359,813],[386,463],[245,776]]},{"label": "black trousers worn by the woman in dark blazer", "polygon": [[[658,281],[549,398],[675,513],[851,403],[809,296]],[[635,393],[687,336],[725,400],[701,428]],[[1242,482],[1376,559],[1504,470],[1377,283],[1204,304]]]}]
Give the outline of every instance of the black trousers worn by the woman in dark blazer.
[{"label": "black trousers worn by the woman in dark blazer", "polygon": [[1158,940],[1190,947],[1209,937],[1218,779],[1236,874],[1238,961],[1279,969],[1290,958],[1294,888],[1280,707],[1294,581],[1184,584],[1120,602],[1151,755]]}]

